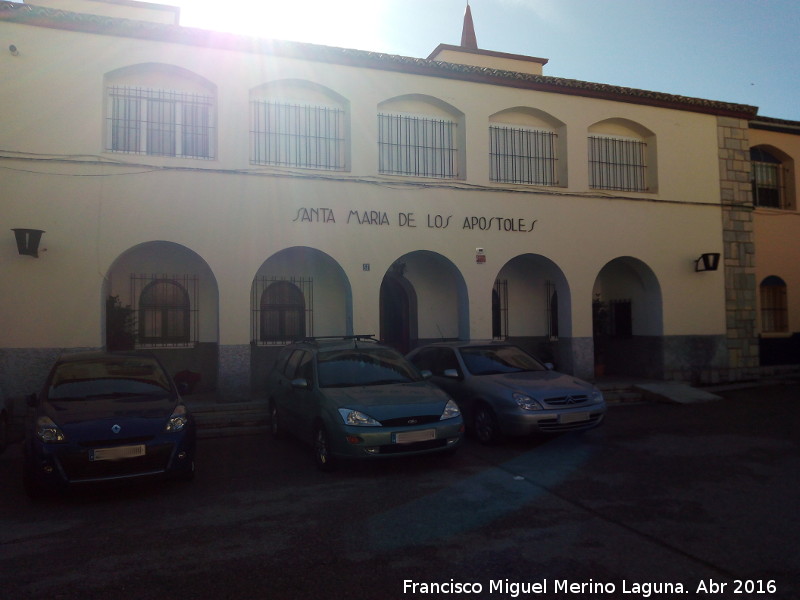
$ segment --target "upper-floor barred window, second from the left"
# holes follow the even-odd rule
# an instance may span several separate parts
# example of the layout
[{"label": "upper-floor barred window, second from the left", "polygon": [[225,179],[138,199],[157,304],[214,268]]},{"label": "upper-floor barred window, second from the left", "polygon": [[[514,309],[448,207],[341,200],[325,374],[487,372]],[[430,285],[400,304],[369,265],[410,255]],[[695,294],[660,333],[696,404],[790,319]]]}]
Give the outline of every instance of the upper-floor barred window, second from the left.
[{"label": "upper-floor barred window, second from the left", "polygon": [[250,162],[344,170],[345,111],[326,106],[251,102]]}]

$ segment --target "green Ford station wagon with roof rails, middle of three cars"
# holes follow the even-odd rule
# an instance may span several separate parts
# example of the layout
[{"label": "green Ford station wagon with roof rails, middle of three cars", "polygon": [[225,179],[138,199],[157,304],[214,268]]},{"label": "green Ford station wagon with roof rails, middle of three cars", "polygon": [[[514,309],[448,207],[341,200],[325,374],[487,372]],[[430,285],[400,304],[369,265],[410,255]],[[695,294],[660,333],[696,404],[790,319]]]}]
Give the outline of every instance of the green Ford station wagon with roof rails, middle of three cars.
[{"label": "green Ford station wagon with roof rails, middle of three cars", "polygon": [[464,433],[456,403],[369,336],[286,346],[268,398],[272,434],[309,443],[322,470],[338,459],[453,452]]}]

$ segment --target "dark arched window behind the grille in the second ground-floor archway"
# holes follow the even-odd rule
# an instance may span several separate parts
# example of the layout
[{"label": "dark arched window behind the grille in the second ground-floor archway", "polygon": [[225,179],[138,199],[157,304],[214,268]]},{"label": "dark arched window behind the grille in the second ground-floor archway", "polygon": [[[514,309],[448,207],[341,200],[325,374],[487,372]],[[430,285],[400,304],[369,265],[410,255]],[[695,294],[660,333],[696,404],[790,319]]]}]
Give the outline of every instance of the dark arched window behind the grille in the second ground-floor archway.
[{"label": "dark arched window behind the grille in the second ground-floor archway", "polygon": [[306,303],[303,292],[289,281],[276,281],[261,295],[261,341],[305,337]]}]

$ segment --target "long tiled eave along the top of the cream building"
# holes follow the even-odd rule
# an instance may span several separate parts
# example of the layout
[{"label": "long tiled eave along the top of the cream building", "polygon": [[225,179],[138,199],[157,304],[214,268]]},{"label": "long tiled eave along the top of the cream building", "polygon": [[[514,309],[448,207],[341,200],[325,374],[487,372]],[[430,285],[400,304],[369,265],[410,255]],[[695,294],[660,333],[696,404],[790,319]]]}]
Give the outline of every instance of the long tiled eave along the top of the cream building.
[{"label": "long tiled eave along the top of the cream building", "polygon": [[678,96],[576,79],[459,65],[365,50],[254,38],[206,29],[73,13],[2,0],[0,0],[0,21],[80,33],[267,54],[283,58],[454,79],[538,92],[567,94],[614,102],[627,102],[747,120],[753,119],[758,111],[757,107],[744,104]]}]

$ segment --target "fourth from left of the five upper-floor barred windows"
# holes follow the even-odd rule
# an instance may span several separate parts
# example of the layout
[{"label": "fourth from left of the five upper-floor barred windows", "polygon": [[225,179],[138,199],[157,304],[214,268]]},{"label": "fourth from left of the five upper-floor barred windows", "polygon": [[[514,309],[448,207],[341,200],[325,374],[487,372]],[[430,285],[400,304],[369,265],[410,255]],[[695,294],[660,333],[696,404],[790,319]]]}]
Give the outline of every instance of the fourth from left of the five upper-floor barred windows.
[{"label": "fourth from left of the five upper-floor barred windows", "polygon": [[552,131],[491,125],[491,180],[502,183],[558,185],[557,138]]}]

